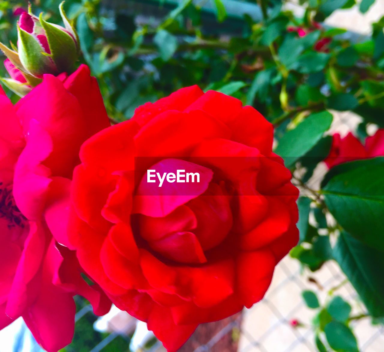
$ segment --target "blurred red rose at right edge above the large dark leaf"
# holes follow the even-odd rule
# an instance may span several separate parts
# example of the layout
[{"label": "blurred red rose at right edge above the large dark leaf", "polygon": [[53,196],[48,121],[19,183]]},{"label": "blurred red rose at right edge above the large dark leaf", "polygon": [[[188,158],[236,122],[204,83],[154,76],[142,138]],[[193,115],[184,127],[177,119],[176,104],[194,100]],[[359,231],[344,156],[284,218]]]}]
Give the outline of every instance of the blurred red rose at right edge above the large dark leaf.
[{"label": "blurred red rose at right edge above the large dark leaf", "polygon": [[328,168],[343,162],[384,156],[384,129],[379,129],[373,136],[367,137],[365,145],[349,132],[344,138],[333,135],[331,151],[324,160]]}]

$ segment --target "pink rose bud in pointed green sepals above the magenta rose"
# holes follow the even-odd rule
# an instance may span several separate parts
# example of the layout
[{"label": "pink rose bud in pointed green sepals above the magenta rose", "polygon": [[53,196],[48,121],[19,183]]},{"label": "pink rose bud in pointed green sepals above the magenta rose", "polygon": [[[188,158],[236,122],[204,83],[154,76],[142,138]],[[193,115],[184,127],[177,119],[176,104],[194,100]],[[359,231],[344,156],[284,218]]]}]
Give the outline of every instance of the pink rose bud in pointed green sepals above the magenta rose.
[{"label": "pink rose bud in pointed green sepals above the magenta rose", "polygon": [[[43,74],[57,76],[63,72],[73,72],[79,51],[78,36],[65,15],[63,3],[59,9],[65,27],[48,23],[42,13],[36,17],[29,9],[21,13],[17,22],[17,48],[12,46],[10,49],[0,43],[0,49],[10,61],[6,63],[7,71],[12,71],[11,81],[5,79],[4,83],[21,96],[30,91],[28,85],[34,87],[40,83]],[[15,79],[15,74],[19,78],[24,77],[25,82]]]}]

